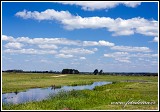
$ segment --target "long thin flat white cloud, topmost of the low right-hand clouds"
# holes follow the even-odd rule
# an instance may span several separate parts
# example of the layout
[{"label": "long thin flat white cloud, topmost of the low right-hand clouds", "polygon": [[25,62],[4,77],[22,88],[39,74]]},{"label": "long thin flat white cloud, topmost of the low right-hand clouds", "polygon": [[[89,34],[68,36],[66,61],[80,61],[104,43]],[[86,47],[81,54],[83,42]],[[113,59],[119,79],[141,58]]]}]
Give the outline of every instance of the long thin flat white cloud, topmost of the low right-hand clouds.
[{"label": "long thin flat white cloud, topmost of the low right-hand clouds", "polygon": [[132,47],[132,46],[113,46],[112,50],[127,51],[127,52],[151,52],[148,47]]}]

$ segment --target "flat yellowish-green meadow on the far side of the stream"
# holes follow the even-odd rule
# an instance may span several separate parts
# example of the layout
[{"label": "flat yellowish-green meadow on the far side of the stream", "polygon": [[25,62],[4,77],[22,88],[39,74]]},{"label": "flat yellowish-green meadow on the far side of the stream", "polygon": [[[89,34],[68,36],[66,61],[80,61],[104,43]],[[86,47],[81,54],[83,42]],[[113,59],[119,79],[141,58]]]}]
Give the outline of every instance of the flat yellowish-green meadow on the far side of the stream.
[{"label": "flat yellowish-green meadow on the far side of the stream", "polygon": [[52,77],[58,74],[45,73],[2,73],[2,92],[19,92],[29,88],[49,87],[55,85],[84,85],[94,81],[125,81],[145,80],[156,81],[157,77],[148,76],[111,76],[111,75],[67,75],[64,77]]}]

